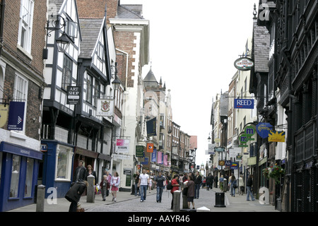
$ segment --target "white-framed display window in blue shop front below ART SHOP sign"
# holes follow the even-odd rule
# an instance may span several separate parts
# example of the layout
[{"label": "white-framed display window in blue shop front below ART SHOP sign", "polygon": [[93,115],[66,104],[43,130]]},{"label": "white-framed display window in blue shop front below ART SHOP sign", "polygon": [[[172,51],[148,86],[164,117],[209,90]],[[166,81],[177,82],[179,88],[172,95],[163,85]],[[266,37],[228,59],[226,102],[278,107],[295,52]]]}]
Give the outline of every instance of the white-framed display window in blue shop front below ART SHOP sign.
[{"label": "white-framed display window in blue shop front below ART SHOP sign", "polygon": [[56,180],[71,181],[72,148],[64,145],[57,146]]}]

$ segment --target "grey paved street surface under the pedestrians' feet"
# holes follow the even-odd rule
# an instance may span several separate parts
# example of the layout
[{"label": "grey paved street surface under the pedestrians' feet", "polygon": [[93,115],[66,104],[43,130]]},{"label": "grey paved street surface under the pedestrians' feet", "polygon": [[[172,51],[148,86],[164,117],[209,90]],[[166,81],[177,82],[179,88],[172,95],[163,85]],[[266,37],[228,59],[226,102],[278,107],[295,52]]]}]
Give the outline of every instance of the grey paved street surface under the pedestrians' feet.
[{"label": "grey paved street surface under the pedestrians' feet", "polygon": [[[164,191],[164,194],[170,193],[170,191]],[[236,194],[235,197],[230,196],[230,192],[227,191],[224,194],[224,206],[220,207],[220,199],[218,199],[218,203],[216,203],[216,193],[218,195],[222,194],[220,189],[213,188],[212,191],[206,191],[206,189],[200,189],[200,197],[198,199],[194,199],[195,207],[196,209],[199,208],[205,208],[208,210],[208,212],[278,212],[278,210],[275,210],[275,206],[272,206],[270,204],[261,204],[257,199],[255,201],[247,201],[246,195],[240,196],[239,194]],[[147,194],[147,197],[151,197],[153,199],[153,203],[155,203],[155,190],[152,190],[151,194]],[[165,195],[167,196],[167,199],[165,203],[167,203],[167,207],[170,207],[171,203],[171,194]],[[134,199],[140,199],[139,196],[131,195],[131,192],[126,191],[118,191],[117,192],[117,202],[116,203],[122,203],[122,205],[125,205],[126,203],[129,203],[128,201],[132,201]],[[150,198],[149,198],[150,199]],[[102,209],[105,205],[113,205],[114,202],[112,202],[112,195],[107,196],[106,201],[102,201],[101,195],[95,196],[95,203],[88,203],[86,201],[86,196],[82,196],[81,200],[81,207],[86,210],[86,212],[90,212],[90,210],[97,209],[100,206],[100,209]],[[139,205],[139,200],[136,200],[134,204],[132,205]],[[221,203],[222,204],[222,203]],[[131,205],[131,203],[129,203]],[[155,204],[152,204],[155,205]],[[32,204],[29,206],[23,206],[21,208],[16,208],[13,210],[9,210],[7,212],[14,213],[14,212],[36,212],[36,204]],[[69,211],[70,203],[66,200],[66,198],[57,198],[55,200],[55,203],[52,203],[52,200],[45,200],[45,207],[44,212],[68,212]],[[180,203],[180,208],[182,208],[182,201]],[[111,210],[107,210],[111,211]],[[148,212],[151,212],[151,208],[147,210]],[[172,210],[167,210],[169,212],[172,212]],[[132,211],[134,212],[134,211]]]}]

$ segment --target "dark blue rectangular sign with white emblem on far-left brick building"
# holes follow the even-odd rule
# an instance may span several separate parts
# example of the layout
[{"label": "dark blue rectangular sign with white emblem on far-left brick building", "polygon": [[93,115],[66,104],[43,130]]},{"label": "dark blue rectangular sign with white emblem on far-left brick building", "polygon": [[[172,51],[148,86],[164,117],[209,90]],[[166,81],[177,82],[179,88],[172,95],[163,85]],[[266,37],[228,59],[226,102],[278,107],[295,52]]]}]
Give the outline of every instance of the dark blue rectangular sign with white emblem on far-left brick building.
[{"label": "dark blue rectangular sign with white emblem on far-left brick building", "polygon": [[8,130],[23,131],[25,102],[10,102]]}]

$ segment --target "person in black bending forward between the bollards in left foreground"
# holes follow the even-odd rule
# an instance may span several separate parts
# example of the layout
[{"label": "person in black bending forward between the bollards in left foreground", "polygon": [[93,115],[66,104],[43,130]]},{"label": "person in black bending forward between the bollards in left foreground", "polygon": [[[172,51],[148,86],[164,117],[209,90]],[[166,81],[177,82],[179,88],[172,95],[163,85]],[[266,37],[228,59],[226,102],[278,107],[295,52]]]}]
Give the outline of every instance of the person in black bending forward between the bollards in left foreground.
[{"label": "person in black bending forward between the bollards in left foreground", "polygon": [[83,192],[86,190],[88,186],[88,182],[76,182],[74,183],[69,191],[67,191],[65,198],[71,202],[69,206],[69,212],[76,212],[77,210],[77,203],[80,200]]}]

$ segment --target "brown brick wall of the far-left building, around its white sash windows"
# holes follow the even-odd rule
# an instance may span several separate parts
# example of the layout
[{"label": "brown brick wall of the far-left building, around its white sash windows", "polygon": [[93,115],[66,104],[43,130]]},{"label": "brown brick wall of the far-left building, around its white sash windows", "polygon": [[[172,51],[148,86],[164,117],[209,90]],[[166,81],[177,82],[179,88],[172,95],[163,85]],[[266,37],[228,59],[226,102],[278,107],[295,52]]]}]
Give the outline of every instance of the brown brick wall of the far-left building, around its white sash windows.
[{"label": "brown brick wall of the far-left building, around its white sash windows", "polygon": [[[31,56],[18,49],[18,29],[20,20],[20,1],[6,1],[4,16],[4,52],[1,58],[7,61],[4,76],[4,98],[13,99],[14,81],[19,71],[28,79],[28,102],[25,117],[25,135],[40,140],[40,116],[42,100],[38,93],[43,81],[44,64],[42,50],[45,47],[47,1],[35,1],[33,10],[33,32]],[[35,119],[35,120],[33,120]],[[6,129],[7,124],[4,126]]]}]

